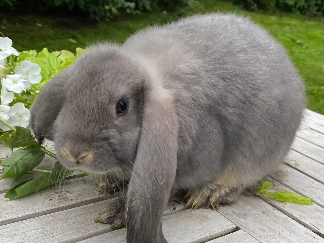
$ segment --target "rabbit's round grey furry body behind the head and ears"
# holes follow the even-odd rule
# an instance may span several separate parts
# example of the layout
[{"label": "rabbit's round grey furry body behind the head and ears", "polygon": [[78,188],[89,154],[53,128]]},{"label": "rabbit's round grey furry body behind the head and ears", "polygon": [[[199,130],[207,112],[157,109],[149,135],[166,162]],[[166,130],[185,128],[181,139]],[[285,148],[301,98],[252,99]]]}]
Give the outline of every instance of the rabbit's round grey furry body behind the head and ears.
[{"label": "rabbit's round grey furry body behind the head and ears", "polygon": [[193,16],[139,31],[122,49],[147,57],[174,93],[175,189],[216,178],[245,187],[287,154],[305,108],[303,82],[284,48],[249,19]]}]

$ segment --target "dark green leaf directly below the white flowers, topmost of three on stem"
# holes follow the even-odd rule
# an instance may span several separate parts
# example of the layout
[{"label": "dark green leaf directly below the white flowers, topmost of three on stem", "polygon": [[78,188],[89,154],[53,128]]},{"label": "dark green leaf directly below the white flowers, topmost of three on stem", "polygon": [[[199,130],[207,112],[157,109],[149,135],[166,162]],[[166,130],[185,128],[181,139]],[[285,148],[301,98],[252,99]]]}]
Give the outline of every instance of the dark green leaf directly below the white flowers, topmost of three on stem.
[{"label": "dark green leaf directly below the white flowers, topmost of three on stem", "polygon": [[16,126],[16,132],[4,140],[3,145],[11,149],[27,146],[33,146],[34,148],[41,147],[36,142],[34,136],[31,135],[30,130],[21,126]]}]

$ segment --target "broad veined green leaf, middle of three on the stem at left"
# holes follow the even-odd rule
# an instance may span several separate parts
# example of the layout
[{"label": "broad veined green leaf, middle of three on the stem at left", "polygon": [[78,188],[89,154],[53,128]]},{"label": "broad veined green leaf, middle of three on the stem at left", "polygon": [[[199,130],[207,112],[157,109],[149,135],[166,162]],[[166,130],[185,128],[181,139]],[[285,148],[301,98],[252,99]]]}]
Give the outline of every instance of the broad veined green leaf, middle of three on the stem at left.
[{"label": "broad veined green leaf, middle of three on the stem at left", "polygon": [[[38,145],[38,144],[37,144]],[[40,145],[39,145],[40,146]],[[9,158],[1,162],[4,166],[4,173],[1,179],[19,178],[23,174],[38,166],[45,156],[41,147],[20,148],[13,152]]]}]

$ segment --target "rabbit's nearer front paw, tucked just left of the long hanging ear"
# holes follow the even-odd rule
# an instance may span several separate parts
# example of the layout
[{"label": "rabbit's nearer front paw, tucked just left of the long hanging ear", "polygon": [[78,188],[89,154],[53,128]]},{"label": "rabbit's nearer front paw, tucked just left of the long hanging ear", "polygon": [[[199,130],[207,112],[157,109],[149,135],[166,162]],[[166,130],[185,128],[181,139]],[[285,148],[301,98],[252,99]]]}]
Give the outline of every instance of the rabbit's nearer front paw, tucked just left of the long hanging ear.
[{"label": "rabbit's nearer front paw, tucked just left of the long hanging ear", "polygon": [[126,204],[123,197],[108,204],[105,209],[95,219],[97,223],[110,224],[111,229],[121,229],[126,227]]}]

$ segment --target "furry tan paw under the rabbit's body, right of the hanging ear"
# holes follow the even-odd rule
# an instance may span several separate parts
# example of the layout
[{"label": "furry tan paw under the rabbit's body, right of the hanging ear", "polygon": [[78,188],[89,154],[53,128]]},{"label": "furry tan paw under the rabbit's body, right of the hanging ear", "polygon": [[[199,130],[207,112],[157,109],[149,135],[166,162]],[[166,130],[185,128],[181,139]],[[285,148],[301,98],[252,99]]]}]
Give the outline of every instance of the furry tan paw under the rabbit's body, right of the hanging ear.
[{"label": "furry tan paw under the rabbit's body, right of the hanging ear", "polygon": [[184,200],[186,202],[186,209],[192,208],[212,208],[218,209],[220,204],[230,204],[238,200],[242,190],[238,188],[227,189],[218,184],[210,184],[202,186],[193,191],[188,191]]}]

